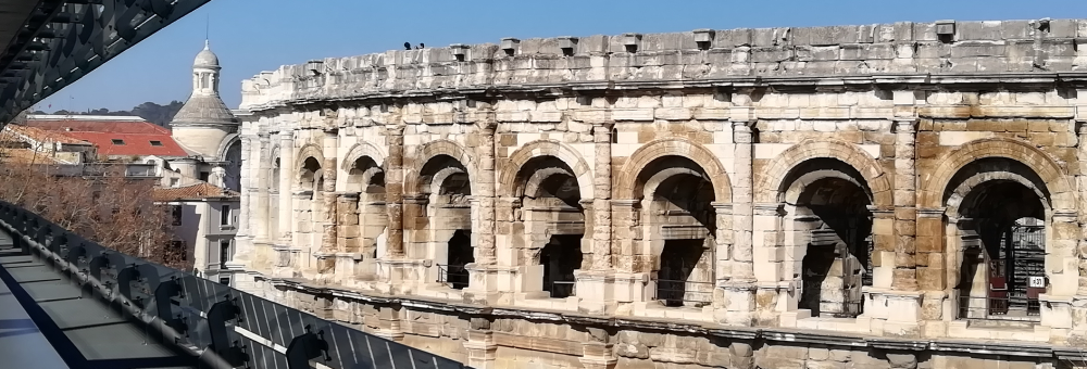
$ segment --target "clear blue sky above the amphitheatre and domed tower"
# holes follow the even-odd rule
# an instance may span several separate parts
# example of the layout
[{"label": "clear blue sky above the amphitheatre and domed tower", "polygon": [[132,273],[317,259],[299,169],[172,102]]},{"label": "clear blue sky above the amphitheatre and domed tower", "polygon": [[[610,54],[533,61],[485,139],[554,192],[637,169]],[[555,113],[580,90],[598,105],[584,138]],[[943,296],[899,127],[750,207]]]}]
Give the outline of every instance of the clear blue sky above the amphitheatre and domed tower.
[{"label": "clear blue sky above the amphitheatre and domed tower", "polygon": [[404,41],[441,47],[497,43],[503,37],[1042,17],[1087,17],[1087,5],[1083,0],[213,0],[37,109],[128,110],[145,101],[184,101],[207,25],[223,64],[223,100],[236,107],[241,80],[261,71],[400,49]]}]

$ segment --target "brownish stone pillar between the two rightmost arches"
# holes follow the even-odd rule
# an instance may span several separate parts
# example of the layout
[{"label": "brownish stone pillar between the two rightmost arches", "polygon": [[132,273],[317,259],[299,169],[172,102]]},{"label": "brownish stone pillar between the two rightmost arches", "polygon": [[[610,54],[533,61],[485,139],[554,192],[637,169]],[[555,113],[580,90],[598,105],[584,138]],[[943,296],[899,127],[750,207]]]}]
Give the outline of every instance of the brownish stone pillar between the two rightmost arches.
[{"label": "brownish stone pillar between the two rightmost arches", "polygon": [[[910,112],[903,113],[899,94],[908,93]],[[904,99],[904,98],[902,98]],[[895,91],[896,115],[913,113],[913,91]],[[902,102],[904,103],[904,102]],[[895,273],[891,288],[898,291],[917,290],[917,119],[909,116],[895,120]]]}]

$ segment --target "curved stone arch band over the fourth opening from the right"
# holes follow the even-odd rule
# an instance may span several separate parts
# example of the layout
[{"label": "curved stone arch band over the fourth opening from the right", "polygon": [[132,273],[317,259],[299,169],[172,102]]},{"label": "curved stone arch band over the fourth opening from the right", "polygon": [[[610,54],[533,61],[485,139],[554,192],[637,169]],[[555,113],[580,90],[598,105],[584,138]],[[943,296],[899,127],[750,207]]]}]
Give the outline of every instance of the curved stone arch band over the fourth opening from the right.
[{"label": "curved stone arch band over the fourth opening from the right", "polygon": [[[550,155],[566,163],[574,170],[582,199],[592,199],[592,171],[582,155],[564,143],[554,140],[536,140],[521,145],[510,155],[509,164],[499,175],[499,195],[511,196],[518,192],[516,177],[525,164],[534,157]],[[523,189],[522,189],[523,190]]]}]

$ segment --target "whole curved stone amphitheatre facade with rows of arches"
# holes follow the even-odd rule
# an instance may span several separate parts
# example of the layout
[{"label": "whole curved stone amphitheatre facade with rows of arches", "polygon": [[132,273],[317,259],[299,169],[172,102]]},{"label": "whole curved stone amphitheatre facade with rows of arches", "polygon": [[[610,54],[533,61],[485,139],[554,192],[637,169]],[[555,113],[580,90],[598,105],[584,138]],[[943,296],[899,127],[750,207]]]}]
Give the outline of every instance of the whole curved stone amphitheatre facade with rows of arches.
[{"label": "whole curved stone amphitheatre facade with rows of arches", "polygon": [[1084,43],[947,21],[284,66],[243,82],[238,285],[475,368],[1076,366]]}]

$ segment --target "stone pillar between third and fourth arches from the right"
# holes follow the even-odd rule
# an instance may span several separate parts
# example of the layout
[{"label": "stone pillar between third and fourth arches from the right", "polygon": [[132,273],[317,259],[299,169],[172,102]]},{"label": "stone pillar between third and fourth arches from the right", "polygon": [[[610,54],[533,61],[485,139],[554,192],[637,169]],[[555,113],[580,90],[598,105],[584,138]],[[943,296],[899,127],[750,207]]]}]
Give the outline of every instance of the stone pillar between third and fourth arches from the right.
[{"label": "stone pillar between third and fourth arches from the right", "polygon": [[592,270],[611,270],[612,240],[612,127],[613,123],[592,126]]}]

